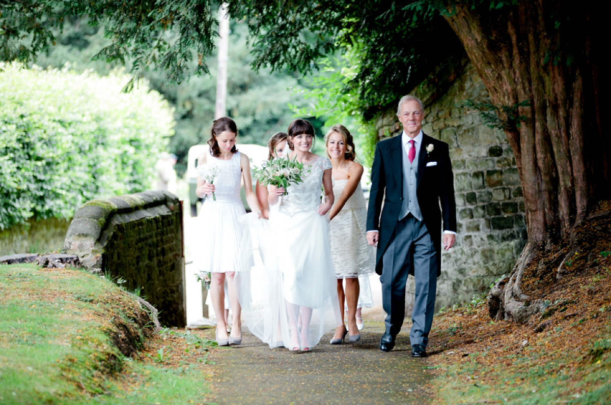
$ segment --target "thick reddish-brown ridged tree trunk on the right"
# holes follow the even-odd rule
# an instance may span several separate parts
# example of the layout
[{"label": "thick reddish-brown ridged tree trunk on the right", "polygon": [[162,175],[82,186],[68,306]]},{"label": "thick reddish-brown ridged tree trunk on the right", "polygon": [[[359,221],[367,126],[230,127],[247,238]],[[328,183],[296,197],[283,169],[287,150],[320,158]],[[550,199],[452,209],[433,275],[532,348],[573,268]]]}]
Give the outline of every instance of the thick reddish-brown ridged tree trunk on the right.
[{"label": "thick reddish-brown ridged tree trunk on the right", "polygon": [[497,295],[505,318],[524,321],[516,315],[527,299],[520,280],[534,253],[565,240],[588,208],[609,196],[607,79],[599,71],[606,14],[565,0],[498,12],[473,3],[448,9],[446,19],[492,103],[507,108],[499,116],[522,181],[528,243]]}]

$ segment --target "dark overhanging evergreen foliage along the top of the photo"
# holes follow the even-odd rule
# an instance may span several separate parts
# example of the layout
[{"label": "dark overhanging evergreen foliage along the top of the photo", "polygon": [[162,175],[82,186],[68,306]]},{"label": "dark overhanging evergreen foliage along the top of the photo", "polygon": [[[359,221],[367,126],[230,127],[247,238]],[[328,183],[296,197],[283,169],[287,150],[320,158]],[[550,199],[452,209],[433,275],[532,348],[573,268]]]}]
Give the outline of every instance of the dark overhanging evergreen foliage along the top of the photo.
[{"label": "dark overhanging evergreen foliage along the top of the photo", "polygon": [[[218,4],[208,0],[2,3],[2,60],[32,62],[56,43],[55,29],[68,18],[89,16],[109,39],[96,58],[131,63],[136,74],[163,71],[167,81],[180,84],[209,71],[205,57],[218,35]],[[356,48],[360,64],[346,90],[357,90],[365,112],[396,100],[448,54],[463,52],[437,2],[237,0],[229,2],[229,13],[247,21],[257,69],[304,73],[326,54]]]}]

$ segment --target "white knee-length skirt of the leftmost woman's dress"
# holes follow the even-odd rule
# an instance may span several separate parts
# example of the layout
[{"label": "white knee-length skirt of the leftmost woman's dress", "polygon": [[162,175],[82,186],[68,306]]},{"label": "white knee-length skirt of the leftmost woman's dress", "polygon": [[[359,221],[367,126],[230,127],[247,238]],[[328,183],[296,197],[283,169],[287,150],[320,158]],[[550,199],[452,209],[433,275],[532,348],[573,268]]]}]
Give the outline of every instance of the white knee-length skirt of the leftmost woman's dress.
[{"label": "white knee-length skirt of the leftmost woman's dress", "polygon": [[197,216],[200,244],[194,261],[199,271],[228,272],[244,269],[240,255],[244,224],[240,218],[245,213],[241,200],[213,201],[207,197]]}]

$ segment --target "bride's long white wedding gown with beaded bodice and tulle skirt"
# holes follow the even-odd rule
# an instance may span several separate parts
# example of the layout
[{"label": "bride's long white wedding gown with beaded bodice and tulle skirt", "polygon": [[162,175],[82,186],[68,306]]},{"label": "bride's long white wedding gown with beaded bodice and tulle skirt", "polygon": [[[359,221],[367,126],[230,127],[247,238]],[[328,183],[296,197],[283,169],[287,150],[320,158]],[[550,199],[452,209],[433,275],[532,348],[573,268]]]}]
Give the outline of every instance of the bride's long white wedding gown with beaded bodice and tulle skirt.
[{"label": "bride's long white wedding gown with beaded bodice and tulle skirt", "polygon": [[264,266],[241,272],[238,278],[244,323],[271,348],[295,347],[291,320],[296,323],[301,315],[303,329],[310,310],[308,341],[300,339],[301,348],[312,348],[341,324],[329,219],[318,213],[323,171],[331,169],[331,162],[318,156],[304,166],[310,169],[304,181],[288,186],[277,210],[271,208],[269,222],[251,219],[249,230],[258,241]]}]

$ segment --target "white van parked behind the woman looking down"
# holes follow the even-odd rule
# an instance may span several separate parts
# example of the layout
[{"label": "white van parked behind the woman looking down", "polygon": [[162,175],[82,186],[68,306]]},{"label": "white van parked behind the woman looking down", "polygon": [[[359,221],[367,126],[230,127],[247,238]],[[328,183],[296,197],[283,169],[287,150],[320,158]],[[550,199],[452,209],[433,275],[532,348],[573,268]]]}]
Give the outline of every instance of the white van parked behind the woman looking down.
[{"label": "white van parked behind the woman looking down", "polygon": [[[187,155],[187,171],[185,173],[187,181],[189,183],[189,204],[191,205],[191,216],[197,216],[197,202],[202,201],[195,194],[195,190],[197,188],[197,165],[199,162],[199,156],[202,155],[203,152],[207,151],[210,147],[208,144],[204,145],[193,145],[189,148],[189,153]],[[261,145],[253,145],[253,144],[243,144],[236,145],[239,151],[242,153],[246,153],[249,161],[251,162],[251,177],[252,177],[252,169],[253,167],[261,166],[263,161],[268,158],[268,148]],[[252,188],[255,188],[256,180],[252,180]],[[249,210],[248,203],[246,202],[246,197],[244,193],[244,189],[241,190],[242,202],[244,203],[244,208],[246,211]]]}]

